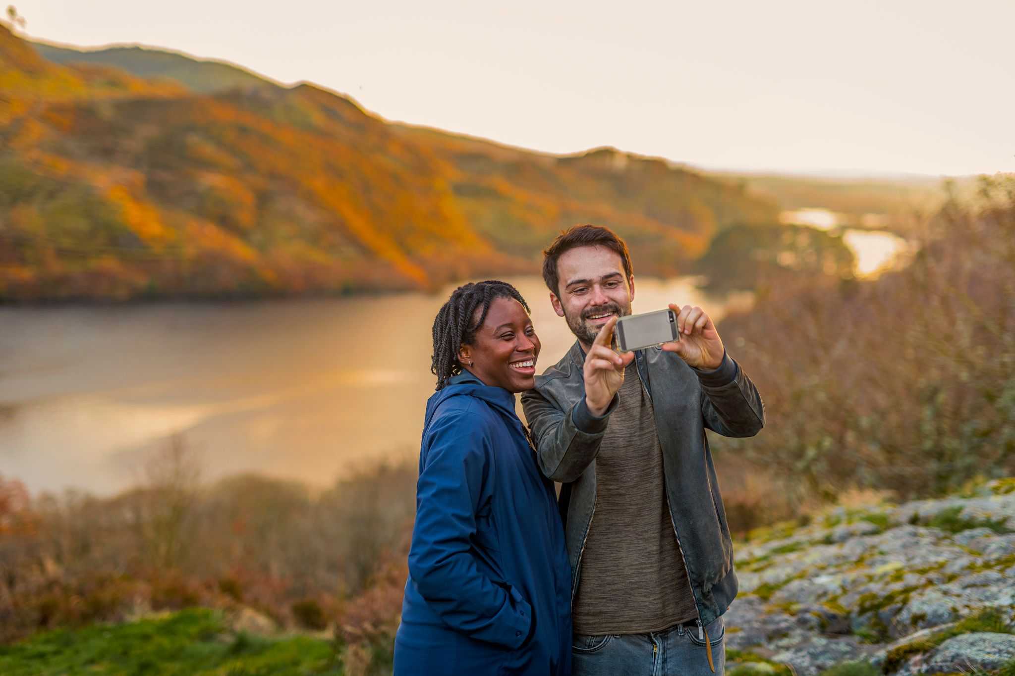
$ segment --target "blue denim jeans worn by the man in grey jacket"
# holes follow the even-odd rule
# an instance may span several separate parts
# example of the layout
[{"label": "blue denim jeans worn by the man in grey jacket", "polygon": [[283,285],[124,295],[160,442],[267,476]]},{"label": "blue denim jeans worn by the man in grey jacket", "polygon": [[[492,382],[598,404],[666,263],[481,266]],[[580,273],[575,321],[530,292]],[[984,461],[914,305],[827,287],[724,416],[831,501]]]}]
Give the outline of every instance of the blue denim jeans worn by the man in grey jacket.
[{"label": "blue denim jeans worn by the man in grey jacket", "polygon": [[[726,624],[717,617],[705,625],[716,676],[726,668]],[[712,676],[704,641],[697,626],[678,624],[652,633],[574,634],[573,676]]]}]

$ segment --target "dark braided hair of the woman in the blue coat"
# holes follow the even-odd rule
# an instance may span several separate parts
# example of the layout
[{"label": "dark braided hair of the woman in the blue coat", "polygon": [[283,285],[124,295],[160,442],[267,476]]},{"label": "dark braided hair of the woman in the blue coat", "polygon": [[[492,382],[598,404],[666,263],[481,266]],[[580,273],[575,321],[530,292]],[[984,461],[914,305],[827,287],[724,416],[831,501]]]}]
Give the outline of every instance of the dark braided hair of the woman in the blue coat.
[{"label": "dark braided hair of the woman in the blue coat", "polygon": [[[472,345],[476,330],[483,325],[494,298],[514,298],[526,312],[530,311],[518,289],[506,282],[487,280],[455,289],[437,312],[433,319],[433,355],[430,363],[430,372],[437,377],[436,389],[442,389],[452,376],[462,372],[462,364],[458,361],[459,348]],[[472,317],[480,308],[479,319],[473,322]]]}]

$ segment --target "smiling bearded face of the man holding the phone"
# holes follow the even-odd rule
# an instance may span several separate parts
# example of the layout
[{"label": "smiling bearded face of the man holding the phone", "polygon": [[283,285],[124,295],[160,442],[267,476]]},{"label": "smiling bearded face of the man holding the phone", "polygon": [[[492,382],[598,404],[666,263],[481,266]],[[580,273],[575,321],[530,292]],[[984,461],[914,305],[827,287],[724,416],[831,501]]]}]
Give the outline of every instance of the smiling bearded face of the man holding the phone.
[{"label": "smiling bearded face of the man holding the phone", "polygon": [[624,276],[620,255],[605,246],[578,246],[557,258],[559,296],[550,293],[558,315],[586,350],[610,317],[631,313],[634,278]]}]

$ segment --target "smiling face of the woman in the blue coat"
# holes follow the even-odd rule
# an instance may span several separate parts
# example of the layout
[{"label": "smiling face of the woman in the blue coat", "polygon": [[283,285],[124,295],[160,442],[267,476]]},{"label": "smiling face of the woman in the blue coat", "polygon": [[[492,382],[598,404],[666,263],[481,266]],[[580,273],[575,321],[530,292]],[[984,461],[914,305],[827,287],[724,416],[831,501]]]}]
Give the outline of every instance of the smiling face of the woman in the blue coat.
[{"label": "smiling face of the woman in the blue coat", "polygon": [[459,356],[463,366],[484,385],[503,387],[509,392],[536,386],[539,337],[529,314],[514,298],[494,298],[490,302],[472,345],[463,345]]}]

